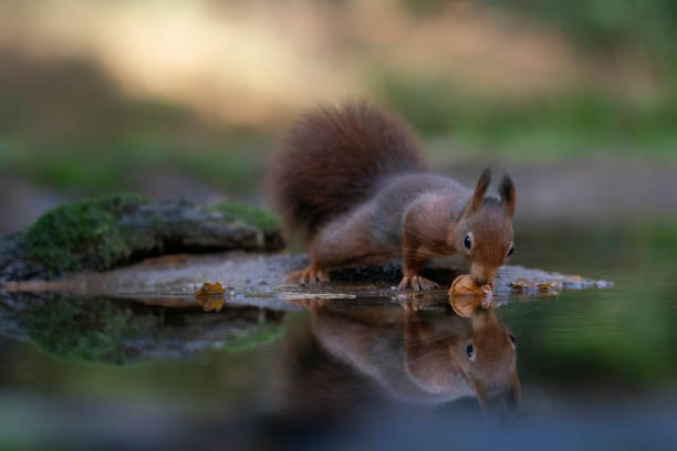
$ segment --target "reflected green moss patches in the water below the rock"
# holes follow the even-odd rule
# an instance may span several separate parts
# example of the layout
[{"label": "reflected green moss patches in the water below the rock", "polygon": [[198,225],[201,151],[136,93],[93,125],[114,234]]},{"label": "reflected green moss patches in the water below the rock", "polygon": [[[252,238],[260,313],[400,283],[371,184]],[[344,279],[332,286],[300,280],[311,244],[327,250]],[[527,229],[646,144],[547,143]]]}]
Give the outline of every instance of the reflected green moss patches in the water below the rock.
[{"label": "reflected green moss patches in the water below the rock", "polygon": [[[71,297],[60,293],[45,296],[44,304],[24,317],[27,331],[40,350],[60,360],[144,364],[158,356],[175,358],[177,340],[190,344],[198,339],[201,343],[199,325],[187,321],[183,314],[177,316],[176,312],[108,297]],[[250,323],[246,327],[233,323],[233,326],[225,346],[229,353],[243,353],[270,344],[287,332],[287,326],[278,322]],[[144,349],[148,348],[153,357],[144,355]]]}]

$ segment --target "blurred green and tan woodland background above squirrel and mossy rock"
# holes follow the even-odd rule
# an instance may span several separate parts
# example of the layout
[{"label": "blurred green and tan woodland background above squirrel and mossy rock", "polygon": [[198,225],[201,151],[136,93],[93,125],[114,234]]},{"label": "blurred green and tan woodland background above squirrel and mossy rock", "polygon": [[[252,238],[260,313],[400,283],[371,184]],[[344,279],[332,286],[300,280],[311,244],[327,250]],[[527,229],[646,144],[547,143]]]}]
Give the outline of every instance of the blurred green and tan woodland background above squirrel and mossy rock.
[{"label": "blurred green and tan woodland background above squirrel and mossy rock", "polygon": [[260,201],[294,116],[352,97],[442,166],[673,165],[676,19],[668,0],[7,0],[0,232],[114,190]]}]

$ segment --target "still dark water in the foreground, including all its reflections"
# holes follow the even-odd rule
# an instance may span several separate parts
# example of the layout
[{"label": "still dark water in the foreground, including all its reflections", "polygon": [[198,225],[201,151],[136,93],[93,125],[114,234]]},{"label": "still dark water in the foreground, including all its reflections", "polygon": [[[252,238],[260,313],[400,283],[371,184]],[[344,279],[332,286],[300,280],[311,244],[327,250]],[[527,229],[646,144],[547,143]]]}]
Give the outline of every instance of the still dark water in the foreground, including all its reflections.
[{"label": "still dark water in the foreground, including all its reflections", "polygon": [[301,312],[0,298],[0,449],[677,449],[677,229],[553,227],[513,263],[613,289]]}]

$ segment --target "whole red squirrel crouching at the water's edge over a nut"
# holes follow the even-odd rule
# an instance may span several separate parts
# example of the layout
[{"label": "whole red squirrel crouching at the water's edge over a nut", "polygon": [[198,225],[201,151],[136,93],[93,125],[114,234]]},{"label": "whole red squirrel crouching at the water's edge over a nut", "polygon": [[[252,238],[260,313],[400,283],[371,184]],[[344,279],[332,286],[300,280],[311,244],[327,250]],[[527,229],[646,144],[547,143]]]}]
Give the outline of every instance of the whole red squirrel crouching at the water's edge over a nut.
[{"label": "whole red squirrel crouching at the water's edge over a nut", "polygon": [[430,290],[421,272],[433,258],[459,254],[479,285],[513,252],[515,189],[486,197],[491,171],[475,189],[429,172],[412,127],[375,105],[321,106],[302,116],[272,161],[273,203],[292,229],[306,231],[311,263],[290,275],[327,281],[336,266],[403,259],[399,289]]}]

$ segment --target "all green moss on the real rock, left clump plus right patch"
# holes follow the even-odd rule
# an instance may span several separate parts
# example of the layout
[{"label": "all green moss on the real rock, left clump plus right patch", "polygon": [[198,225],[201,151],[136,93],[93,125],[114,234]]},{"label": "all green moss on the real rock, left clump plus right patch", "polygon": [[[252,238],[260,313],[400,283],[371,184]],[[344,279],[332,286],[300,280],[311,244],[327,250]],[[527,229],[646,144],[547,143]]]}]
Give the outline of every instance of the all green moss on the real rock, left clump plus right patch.
[{"label": "all green moss on the real rock, left clump plus right patch", "polygon": [[[136,195],[115,195],[63,204],[43,214],[21,234],[19,258],[39,265],[46,276],[84,270],[106,271],[146,255],[162,254],[167,242],[189,233],[195,224],[167,219],[156,210],[144,211],[139,221],[123,220],[148,203]],[[188,204],[186,208],[192,208]],[[204,210],[219,211],[223,221],[257,228],[267,249],[280,249],[280,221],[272,213],[242,202],[226,202]],[[195,232],[190,229],[190,232]],[[12,244],[7,244],[8,247]],[[4,247],[0,241],[0,250]],[[9,253],[9,252],[8,252]]]}]

